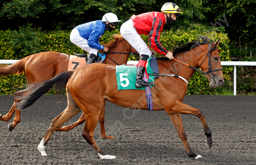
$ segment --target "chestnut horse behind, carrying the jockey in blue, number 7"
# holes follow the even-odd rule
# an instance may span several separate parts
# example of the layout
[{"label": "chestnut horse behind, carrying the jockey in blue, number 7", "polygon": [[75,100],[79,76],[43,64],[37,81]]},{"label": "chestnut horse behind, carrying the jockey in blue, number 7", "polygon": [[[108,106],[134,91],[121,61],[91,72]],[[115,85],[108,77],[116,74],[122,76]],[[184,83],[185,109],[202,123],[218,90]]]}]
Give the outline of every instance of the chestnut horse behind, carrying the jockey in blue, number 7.
[{"label": "chestnut horse behind, carrying the jockey in blue, number 7", "polygon": [[[114,34],[113,38],[114,41],[111,41],[108,44],[103,45],[109,47],[109,52],[118,53],[107,53],[107,57],[103,61],[103,64],[122,65],[123,63],[126,63],[128,61],[130,54],[122,54],[121,52],[137,53],[137,51],[133,47],[131,47],[126,40],[123,40],[123,37],[120,34]],[[150,50],[152,52],[152,55],[154,56],[155,52],[151,48]],[[69,57],[70,55],[68,54],[63,54],[54,51],[33,54],[21,59],[15,64],[0,65],[0,76],[10,74],[21,74],[25,72],[28,84],[40,83],[44,80],[52,79],[55,75],[58,75],[59,73],[67,71]],[[17,93],[14,93],[14,95],[16,96]],[[0,120],[8,122],[15,112],[15,118],[13,119],[13,123],[10,123],[8,125],[9,131],[12,131],[16,127],[16,125],[20,123],[20,110],[18,110],[15,107],[16,102],[17,100],[14,101],[12,108],[6,115],[2,116],[2,114],[0,114]],[[104,113],[105,106],[102,107],[102,114],[99,117],[102,137],[105,137]],[[71,126],[62,127],[58,131],[67,132],[70,129],[74,128],[76,125],[77,124],[73,124]],[[111,136],[109,138],[113,139],[113,137]]]}]

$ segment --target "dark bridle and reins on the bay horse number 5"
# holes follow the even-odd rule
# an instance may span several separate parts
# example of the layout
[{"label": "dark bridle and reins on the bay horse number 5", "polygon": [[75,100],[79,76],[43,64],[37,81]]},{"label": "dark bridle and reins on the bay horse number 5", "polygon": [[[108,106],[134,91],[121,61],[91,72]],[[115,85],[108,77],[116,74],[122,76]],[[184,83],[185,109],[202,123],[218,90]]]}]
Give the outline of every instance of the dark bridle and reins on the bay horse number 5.
[{"label": "dark bridle and reins on the bay horse number 5", "polygon": [[[181,64],[186,65],[187,67],[193,68],[193,69],[199,71],[200,73],[203,73],[204,76],[207,75],[207,77],[208,77],[209,79],[211,79],[211,78],[213,78],[212,72],[222,70],[222,68],[212,70],[211,53],[210,53],[211,44],[212,44],[212,43],[209,44],[208,53],[206,54],[206,56],[205,56],[205,58],[204,58],[204,60],[205,60],[207,56],[209,57],[209,59],[208,59],[208,71],[207,71],[207,72],[204,72],[204,71],[202,71],[202,70],[200,70],[200,69],[194,68],[193,66],[190,66],[190,65],[188,65],[188,64],[186,64],[186,63],[184,63],[184,62],[181,62],[181,61],[179,61],[179,60],[176,60],[176,59],[174,59],[174,58],[172,58],[172,60],[177,61],[177,62],[180,62]],[[218,51],[219,49],[215,49],[215,50]],[[172,60],[171,60],[171,62],[172,62]],[[201,64],[199,65],[199,68],[200,68],[200,66],[202,65],[202,63],[204,62],[204,60],[203,60],[203,61],[201,62]],[[173,67],[173,68],[174,68],[174,67]],[[174,70],[175,70],[175,68],[174,68]],[[208,76],[209,74],[212,74],[212,76],[209,77],[209,76]],[[205,77],[206,77],[206,76],[205,76]]]}]

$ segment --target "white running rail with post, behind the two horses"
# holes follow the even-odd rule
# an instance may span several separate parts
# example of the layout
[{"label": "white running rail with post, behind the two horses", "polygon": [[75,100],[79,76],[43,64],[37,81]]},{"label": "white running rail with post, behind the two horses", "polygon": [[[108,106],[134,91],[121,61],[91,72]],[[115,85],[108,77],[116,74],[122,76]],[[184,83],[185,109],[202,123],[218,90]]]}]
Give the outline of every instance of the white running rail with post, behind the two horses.
[{"label": "white running rail with post, behind the two horses", "polygon": [[[0,60],[0,64],[14,64],[19,60]],[[137,64],[138,61],[128,61],[127,64]],[[221,65],[234,66],[234,96],[236,95],[236,66],[256,66],[256,61],[221,61]]]}]

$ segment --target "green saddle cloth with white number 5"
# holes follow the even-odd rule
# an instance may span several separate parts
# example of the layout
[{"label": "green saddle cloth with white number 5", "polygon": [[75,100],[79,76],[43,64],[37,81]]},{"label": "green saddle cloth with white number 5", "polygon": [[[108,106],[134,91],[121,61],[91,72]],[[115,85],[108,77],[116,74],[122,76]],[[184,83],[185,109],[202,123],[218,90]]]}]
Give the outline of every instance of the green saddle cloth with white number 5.
[{"label": "green saddle cloth with white number 5", "polygon": [[[151,57],[152,58],[152,57]],[[148,74],[153,74],[153,71],[150,67],[150,59],[148,58],[147,62],[147,72]],[[118,65],[116,66],[116,81],[118,90],[145,90],[145,87],[136,88],[136,66],[129,65]],[[154,81],[154,76],[149,76]],[[151,82],[152,80],[148,81]]]}]

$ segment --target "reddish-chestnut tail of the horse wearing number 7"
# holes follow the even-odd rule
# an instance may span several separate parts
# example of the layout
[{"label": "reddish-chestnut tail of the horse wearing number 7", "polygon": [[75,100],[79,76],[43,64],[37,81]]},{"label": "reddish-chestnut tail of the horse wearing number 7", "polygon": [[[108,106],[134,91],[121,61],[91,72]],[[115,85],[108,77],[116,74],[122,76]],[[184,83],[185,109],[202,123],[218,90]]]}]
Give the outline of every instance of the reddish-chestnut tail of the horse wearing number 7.
[{"label": "reddish-chestnut tail of the horse wearing number 7", "polygon": [[0,77],[5,75],[10,75],[10,74],[23,73],[25,71],[25,64],[31,56],[32,55],[22,58],[20,61],[12,65],[0,65]]}]

